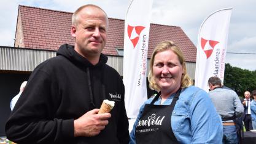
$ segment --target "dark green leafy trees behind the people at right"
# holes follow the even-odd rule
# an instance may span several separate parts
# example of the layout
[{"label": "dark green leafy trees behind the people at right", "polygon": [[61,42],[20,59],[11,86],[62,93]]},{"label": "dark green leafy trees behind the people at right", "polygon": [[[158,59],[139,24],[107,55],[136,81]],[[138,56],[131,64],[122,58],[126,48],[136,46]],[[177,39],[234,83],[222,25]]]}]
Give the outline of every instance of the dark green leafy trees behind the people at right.
[{"label": "dark green leafy trees behind the people at right", "polygon": [[238,96],[244,96],[246,90],[249,92],[256,90],[256,70],[242,70],[241,68],[232,67],[229,63],[226,63],[224,84],[235,90]]}]

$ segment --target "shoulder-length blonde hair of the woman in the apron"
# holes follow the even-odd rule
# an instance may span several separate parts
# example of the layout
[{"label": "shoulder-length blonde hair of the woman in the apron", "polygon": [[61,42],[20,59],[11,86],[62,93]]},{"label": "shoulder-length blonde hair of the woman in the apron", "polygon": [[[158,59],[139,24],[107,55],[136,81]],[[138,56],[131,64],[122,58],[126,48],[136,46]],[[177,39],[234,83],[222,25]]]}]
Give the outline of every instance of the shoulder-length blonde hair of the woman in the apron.
[{"label": "shoulder-length blonde hair of the woman in the apron", "polygon": [[177,55],[179,62],[182,65],[183,70],[184,70],[184,74],[182,74],[182,77],[181,77],[180,87],[184,88],[184,87],[193,85],[192,79],[187,74],[187,68],[185,65],[185,57],[184,57],[184,54],[181,51],[181,49],[178,48],[176,45],[174,45],[173,41],[162,41],[153,50],[153,53],[152,53],[152,56],[150,59],[150,70],[149,70],[149,76],[148,76],[149,87],[153,90],[157,90],[158,92],[160,91],[160,87],[157,85],[157,83],[155,82],[155,79],[153,77],[153,63],[155,61],[155,55],[158,54],[158,52],[166,51],[169,49],[171,49],[171,51],[173,51]]}]

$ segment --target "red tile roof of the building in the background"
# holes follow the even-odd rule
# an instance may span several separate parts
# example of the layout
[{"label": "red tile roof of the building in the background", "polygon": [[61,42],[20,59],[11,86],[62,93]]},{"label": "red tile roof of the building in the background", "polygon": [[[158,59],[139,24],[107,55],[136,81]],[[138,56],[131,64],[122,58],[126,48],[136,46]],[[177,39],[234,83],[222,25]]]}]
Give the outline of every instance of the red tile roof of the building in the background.
[{"label": "red tile roof of the building in the background", "polygon": [[[41,9],[19,5],[25,48],[57,50],[63,43],[73,45],[71,37],[71,12]],[[109,18],[107,44],[103,53],[117,55],[116,48],[123,48],[125,21]],[[149,51],[162,40],[173,40],[185,54],[188,62],[196,62],[196,47],[187,35],[177,26],[150,24]]]}]

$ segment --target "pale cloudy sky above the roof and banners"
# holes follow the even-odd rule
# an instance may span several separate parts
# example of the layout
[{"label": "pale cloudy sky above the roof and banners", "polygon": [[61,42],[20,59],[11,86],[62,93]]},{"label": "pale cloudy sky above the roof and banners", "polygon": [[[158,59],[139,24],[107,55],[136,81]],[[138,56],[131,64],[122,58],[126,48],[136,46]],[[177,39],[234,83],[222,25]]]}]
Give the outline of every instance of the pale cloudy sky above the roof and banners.
[{"label": "pale cloudy sky above the roof and banners", "polygon": [[[1,0],[0,46],[14,46],[18,5],[74,12],[84,4],[96,4],[110,18],[125,20],[130,0]],[[150,23],[179,26],[197,46],[201,23],[216,10],[233,8],[228,32],[226,62],[233,67],[256,70],[255,0],[153,0]]]}]

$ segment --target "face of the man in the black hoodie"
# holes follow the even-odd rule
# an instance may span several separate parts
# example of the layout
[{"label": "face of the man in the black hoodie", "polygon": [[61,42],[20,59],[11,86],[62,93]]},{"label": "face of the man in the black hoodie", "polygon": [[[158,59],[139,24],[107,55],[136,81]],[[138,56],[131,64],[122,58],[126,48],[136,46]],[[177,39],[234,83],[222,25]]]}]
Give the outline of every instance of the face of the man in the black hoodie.
[{"label": "face of the man in the black hoodie", "polygon": [[77,16],[77,25],[71,29],[75,50],[83,57],[99,56],[106,45],[107,16],[95,7],[83,9]]}]

